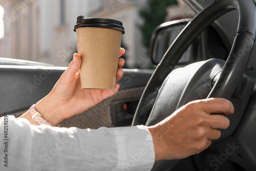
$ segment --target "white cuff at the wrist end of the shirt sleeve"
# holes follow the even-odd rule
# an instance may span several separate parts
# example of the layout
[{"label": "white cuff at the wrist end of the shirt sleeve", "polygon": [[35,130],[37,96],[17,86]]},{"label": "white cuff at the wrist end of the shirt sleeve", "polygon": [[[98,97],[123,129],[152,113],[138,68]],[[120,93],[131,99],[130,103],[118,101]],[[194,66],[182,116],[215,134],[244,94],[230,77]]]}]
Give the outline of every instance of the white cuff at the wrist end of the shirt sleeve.
[{"label": "white cuff at the wrist end of the shirt sleeve", "polygon": [[153,139],[146,126],[115,127],[118,170],[151,170],[155,162]]}]

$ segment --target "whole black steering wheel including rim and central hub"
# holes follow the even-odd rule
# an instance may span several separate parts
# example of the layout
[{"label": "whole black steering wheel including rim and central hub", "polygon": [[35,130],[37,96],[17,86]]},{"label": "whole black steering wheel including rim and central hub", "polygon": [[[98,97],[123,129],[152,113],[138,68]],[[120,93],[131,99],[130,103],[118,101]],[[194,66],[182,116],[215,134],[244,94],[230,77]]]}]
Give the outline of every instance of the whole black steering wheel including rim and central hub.
[{"label": "whole black steering wheel including rim and central hub", "polygon": [[[187,24],[187,26],[175,39],[173,44],[169,47],[161,62],[157,66],[155,72],[153,73],[150,81],[148,81],[147,86],[140,99],[132,125],[154,125],[172,114],[172,112],[170,112],[170,109],[178,109],[182,105],[182,103],[180,102],[182,101],[182,99],[186,99],[183,101],[187,101],[195,98],[191,97],[193,96],[193,93],[183,93],[181,94],[181,97],[178,97],[178,99],[163,99],[158,97],[158,95],[163,94],[161,93],[161,91],[165,90],[165,92],[167,92],[170,88],[170,84],[172,84],[172,81],[169,81],[169,79],[172,79],[174,77],[174,74],[170,74],[170,72],[174,69],[181,56],[187,50],[189,45],[191,45],[194,39],[199,36],[200,33],[217,18],[235,9],[237,9],[239,12],[239,24],[236,36],[234,37],[231,51],[228,55],[226,62],[222,62],[219,60],[201,62],[199,65],[196,65],[197,69],[195,69],[195,72],[191,72],[197,75],[194,75],[194,77],[196,78],[196,81],[194,80],[194,83],[204,82],[204,79],[206,79],[207,76],[210,77],[211,82],[214,77],[217,78],[213,88],[209,90],[210,92],[207,98],[222,97],[229,100],[231,99],[232,95],[235,93],[238,87],[239,82],[241,82],[243,72],[248,63],[255,40],[256,10],[251,0],[216,0],[215,3],[207,6],[204,10],[198,13],[193,18],[193,20],[191,20],[191,22]],[[210,74],[206,74],[204,77],[200,77],[200,75],[204,75],[205,70],[207,70],[209,66],[209,73],[215,71],[215,74],[211,76]],[[220,67],[218,69],[215,69],[215,66]],[[193,67],[190,67],[190,69],[191,68]],[[220,73],[219,70],[221,71]],[[190,70],[187,70],[186,72],[190,72]],[[179,72],[177,71],[176,74],[178,73]],[[186,77],[184,79],[186,79]],[[184,86],[184,89],[185,90],[182,90],[182,92],[188,92],[189,86]],[[172,87],[172,91],[180,91],[180,87],[177,86],[177,81],[176,86]],[[196,98],[199,99],[198,96]],[[167,102],[166,100],[170,101]],[[169,105],[168,108],[165,108],[165,106],[163,105],[161,108],[158,108],[156,106],[157,104],[159,104],[158,101],[161,101],[161,103],[165,101],[165,104]],[[240,119],[241,117],[237,117],[230,120],[231,130],[224,136],[230,135],[234,131],[234,129],[236,129]],[[155,162],[153,170],[166,170],[169,169],[171,166],[175,165],[176,163],[177,160]]]}]

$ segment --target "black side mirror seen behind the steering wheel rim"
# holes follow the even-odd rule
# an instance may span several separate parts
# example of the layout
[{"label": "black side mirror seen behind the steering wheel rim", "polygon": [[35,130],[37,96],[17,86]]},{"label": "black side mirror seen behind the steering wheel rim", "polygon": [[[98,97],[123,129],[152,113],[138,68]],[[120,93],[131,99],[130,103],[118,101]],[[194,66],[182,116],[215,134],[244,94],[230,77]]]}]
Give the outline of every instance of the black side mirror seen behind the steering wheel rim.
[{"label": "black side mirror seen behind the steering wheel rim", "polygon": [[[191,19],[180,19],[172,22],[166,22],[158,26],[153,31],[150,42],[150,56],[154,65],[158,65],[169,46],[172,45],[176,37],[188,22],[190,22],[190,20]],[[191,49],[191,47],[189,48]],[[190,60],[189,57],[190,55],[185,52],[179,62],[185,63]]]}]

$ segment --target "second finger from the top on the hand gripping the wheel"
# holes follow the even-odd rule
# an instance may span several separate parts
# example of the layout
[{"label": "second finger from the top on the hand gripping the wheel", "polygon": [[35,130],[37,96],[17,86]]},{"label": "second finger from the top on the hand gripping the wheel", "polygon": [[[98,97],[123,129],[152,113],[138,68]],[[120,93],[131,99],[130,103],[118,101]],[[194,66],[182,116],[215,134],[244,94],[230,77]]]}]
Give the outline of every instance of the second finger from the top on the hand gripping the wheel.
[{"label": "second finger from the top on the hand gripping the wheel", "polygon": [[209,119],[212,129],[227,129],[229,126],[229,119],[223,115],[210,115]]}]

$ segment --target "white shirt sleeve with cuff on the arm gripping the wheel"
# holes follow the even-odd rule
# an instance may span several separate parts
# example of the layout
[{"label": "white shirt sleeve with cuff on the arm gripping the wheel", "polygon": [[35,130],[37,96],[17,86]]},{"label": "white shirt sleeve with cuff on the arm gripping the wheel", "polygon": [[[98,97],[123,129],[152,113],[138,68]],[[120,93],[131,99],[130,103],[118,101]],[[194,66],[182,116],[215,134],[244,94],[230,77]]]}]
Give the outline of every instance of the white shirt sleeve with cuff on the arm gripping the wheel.
[{"label": "white shirt sleeve with cuff on the arm gripping the wheel", "polygon": [[137,171],[151,170],[155,161],[152,136],[143,125],[67,129],[7,116],[0,118],[0,170]]}]

